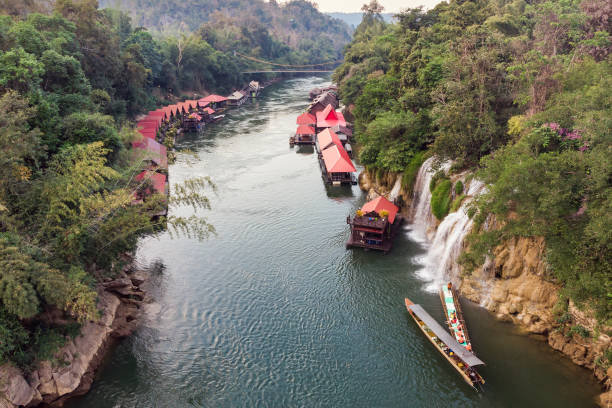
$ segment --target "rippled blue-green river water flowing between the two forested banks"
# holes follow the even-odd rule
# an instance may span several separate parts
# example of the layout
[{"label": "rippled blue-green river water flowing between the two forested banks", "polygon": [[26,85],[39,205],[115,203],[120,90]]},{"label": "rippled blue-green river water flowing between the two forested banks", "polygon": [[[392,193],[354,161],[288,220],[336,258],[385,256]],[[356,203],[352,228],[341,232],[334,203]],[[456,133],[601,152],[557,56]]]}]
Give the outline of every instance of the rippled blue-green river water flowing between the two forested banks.
[{"label": "rippled blue-green river water flowing between the two forested banks", "polygon": [[[437,354],[404,297],[439,321],[436,294],[401,234],[388,255],[346,250],[357,186],[322,182],[312,149],[290,149],[308,91],[328,78],[276,84],[261,99],[185,136],[170,180],[210,176],[217,235],[142,240],[151,265],[143,327],[102,365],[71,407],[589,407],[590,373],[464,303],[487,363],[477,393]],[[189,208],[172,208],[190,215]]]}]

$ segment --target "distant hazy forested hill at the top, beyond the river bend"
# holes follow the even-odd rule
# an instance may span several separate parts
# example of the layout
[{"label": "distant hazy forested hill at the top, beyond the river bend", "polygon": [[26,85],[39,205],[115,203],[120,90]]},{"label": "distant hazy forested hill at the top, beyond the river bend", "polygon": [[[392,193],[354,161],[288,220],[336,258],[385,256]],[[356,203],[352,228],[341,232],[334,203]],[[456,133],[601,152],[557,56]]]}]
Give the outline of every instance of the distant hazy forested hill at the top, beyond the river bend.
[{"label": "distant hazy forested hill at the top, beyond the river bend", "polygon": [[275,0],[99,0],[99,4],[127,12],[134,25],[154,32],[248,30],[253,37],[266,31],[292,49],[314,50],[321,57],[333,51],[341,58],[352,33],[344,21],[319,12],[306,0],[282,4]]}]

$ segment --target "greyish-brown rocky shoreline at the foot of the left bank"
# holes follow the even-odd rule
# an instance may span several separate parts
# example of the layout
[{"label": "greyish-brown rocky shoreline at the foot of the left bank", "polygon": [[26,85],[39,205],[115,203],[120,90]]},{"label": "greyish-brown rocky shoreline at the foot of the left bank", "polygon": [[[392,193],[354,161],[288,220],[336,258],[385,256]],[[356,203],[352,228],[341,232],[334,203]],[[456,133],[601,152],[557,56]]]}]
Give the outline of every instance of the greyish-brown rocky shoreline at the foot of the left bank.
[{"label": "greyish-brown rocky shoreline at the foot of the left bank", "polygon": [[[138,326],[146,301],[142,289],[147,273],[130,266],[98,286],[100,317],[81,327],[81,333],[57,353],[61,363],[42,361],[23,373],[11,365],[0,367],[0,408],[61,407],[91,388],[106,351]],[[61,318],[61,313],[58,313]]]}]

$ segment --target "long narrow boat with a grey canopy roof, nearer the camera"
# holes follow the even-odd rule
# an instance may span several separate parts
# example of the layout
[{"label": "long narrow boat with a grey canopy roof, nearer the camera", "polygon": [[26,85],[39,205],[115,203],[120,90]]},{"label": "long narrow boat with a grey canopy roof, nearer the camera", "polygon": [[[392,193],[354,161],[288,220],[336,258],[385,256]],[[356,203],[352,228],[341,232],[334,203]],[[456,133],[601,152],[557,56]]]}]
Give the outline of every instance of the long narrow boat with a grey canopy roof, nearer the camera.
[{"label": "long narrow boat with a grey canopy roof, nearer the camera", "polygon": [[405,302],[408,313],[419,326],[419,329],[453,368],[461,374],[465,382],[475,390],[477,390],[477,386],[484,384],[484,379],[474,369],[475,366],[484,365],[484,362],[457,343],[420,305],[415,305],[408,298],[405,299]]}]

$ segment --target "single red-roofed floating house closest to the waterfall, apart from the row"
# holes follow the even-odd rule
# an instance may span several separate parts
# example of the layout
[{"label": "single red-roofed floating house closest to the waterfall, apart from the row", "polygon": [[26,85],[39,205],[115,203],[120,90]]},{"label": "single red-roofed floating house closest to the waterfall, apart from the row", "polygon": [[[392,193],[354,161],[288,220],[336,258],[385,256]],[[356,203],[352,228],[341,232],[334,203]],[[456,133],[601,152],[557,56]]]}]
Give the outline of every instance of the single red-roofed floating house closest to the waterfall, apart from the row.
[{"label": "single red-roofed floating house closest to the waterfall, apart from the row", "polygon": [[391,250],[393,238],[402,223],[399,208],[385,197],[378,197],[364,204],[357,214],[346,222],[351,226],[351,236],[346,247],[376,249],[385,253]]}]

